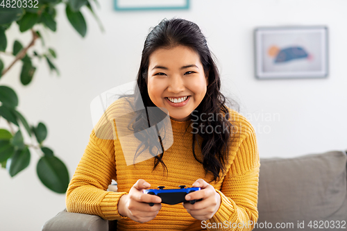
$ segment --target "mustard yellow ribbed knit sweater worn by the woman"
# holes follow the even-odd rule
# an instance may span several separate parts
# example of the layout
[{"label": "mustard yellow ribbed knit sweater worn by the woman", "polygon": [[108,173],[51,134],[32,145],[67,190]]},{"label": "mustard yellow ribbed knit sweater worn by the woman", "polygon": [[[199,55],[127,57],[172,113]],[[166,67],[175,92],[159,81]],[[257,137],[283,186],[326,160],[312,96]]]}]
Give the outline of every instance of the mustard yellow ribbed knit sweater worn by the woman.
[{"label": "mustard yellow ribbed knit sweater worn by the woman", "polygon": [[[260,160],[255,132],[241,114],[230,110],[235,126],[235,138],[230,141],[229,164],[226,174],[219,182],[211,182],[212,174],[205,175],[202,164],[192,152],[192,127],[189,121],[171,120],[174,144],[164,151],[162,158],[168,169],[163,173],[161,164],[153,169],[153,158],[127,165],[117,139],[116,123],[112,120],[119,112],[131,112],[126,101],[118,100],[107,110],[107,117],[113,124],[110,134],[96,136],[94,130],[85,153],[78,164],[74,177],[67,189],[67,211],[96,214],[103,219],[118,220],[118,230],[252,230],[257,221],[257,191]],[[112,123],[113,122],[113,123]],[[187,132],[185,128],[189,127]],[[114,139],[106,139],[107,137]],[[101,139],[102,138],[102,139]],[[131,144],[129,144],[131,145]],[[201,151],[195,148],[196,155]],[[139,179],[151,184],[151,188],[164,185],[166,189],[177,189],[178,185],[191,187],[203,178],[221,195],[221,205],[208,221],[194,219],[182,204],[162,204],[162,209],[152,221],[137,223],[120,216],[117,205],[119,198],[127,194]],[[117,181],[118,191],[107,191],[112,179]],[[239,226],[239,228],[237,228]]]}]

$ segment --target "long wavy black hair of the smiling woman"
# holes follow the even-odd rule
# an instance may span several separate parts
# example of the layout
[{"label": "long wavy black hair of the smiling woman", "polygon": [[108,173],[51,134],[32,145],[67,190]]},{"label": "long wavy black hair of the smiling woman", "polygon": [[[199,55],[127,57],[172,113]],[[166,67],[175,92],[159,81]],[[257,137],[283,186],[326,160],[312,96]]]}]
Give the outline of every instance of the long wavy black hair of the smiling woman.
[{"label": "long wavy black hair of the smiling woman", "polygon": [[[137,74],[138,88],[135,89],[135,94],[133,95],[135,96],[135,108],[137,106],[140,107],[140,105],[144,105],[145,108],[155,107],[149,98],[146,84],[151,53],[156,49],[169,49],[178,45],[187,46],[198,53],[205,74],[208,73],[206,75],[208,76],[207,92],[203,101],[194,110],[194,118],[198,119],[194,120],[194,131],[196,132],[192,132],[192,151],[196,161],[203,164],[205,173],[210,172],[214,176],[213,180],[219,180],[219,173],[224,173],[228,164],[228,146],[231,142],[233,126],[230,123],[230,112],[226,107],[226,97],[220,92],[221,80],[217,65],[212,59],[205,36],[194,22],[176,18],[163,19],[146,37],[142,51],[142,60]],[[208,119],[211,116],[214,119]],[[153,170],[159,163],[167,170],[167,166],[162,161],[162,156],[164,155],[162,141],[160,140],[161,147],[153,148],[151,140],[153,141],[153,135],[155,136],[155,134],[148,134],[148,131],[144,132],[148,128],[149,117],[155,117],[160,121],[164,114],[158,114],[158,111],[137,110],[137,115],[134,117],[131,125],[129,125],[135,132],[137,139],[142,142],[137,148],[138,152],[134,160],[141,153],[140,149],[143,151],[143,148],[149,148],[149,152],[155,157]],[[208,130],[209,128],[210,130]],[[212,132],[211,128],[213,128]],[[200,143],[198,142],[198,136],[202,138]],[[196,142],[201,147],[201,157],[196,156]],[[158,155],[157,151],[160,149],[162,149],[162,153]]]}]

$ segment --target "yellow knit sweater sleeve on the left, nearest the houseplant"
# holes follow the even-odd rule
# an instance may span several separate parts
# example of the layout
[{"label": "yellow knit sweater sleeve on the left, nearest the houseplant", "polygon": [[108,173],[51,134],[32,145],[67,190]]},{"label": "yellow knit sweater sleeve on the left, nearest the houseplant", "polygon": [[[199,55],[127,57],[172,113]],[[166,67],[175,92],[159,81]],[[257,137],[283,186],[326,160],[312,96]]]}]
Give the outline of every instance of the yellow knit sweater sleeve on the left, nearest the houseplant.
[{"label": "yellow knit sweater sleeve on the left, nearest the houseplant", "polygon": [[113,140],[99,139],[93,130],[67,189],[67,211],[99,215],[108,220],[124,219],[117,205],[126,193],[107,191],[112,179],[116,180]]}]

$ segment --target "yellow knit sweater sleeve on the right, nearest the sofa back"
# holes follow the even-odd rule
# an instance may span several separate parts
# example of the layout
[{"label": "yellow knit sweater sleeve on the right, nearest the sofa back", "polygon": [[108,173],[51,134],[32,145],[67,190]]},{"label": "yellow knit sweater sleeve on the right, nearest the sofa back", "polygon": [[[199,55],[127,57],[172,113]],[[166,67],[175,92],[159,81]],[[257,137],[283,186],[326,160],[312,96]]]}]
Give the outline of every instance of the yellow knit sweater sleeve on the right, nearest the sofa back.
[{"label": "yellow knit sweater sleeve on the right, nearest the sofa back", "polygon": [[252,230],[257,222],[260,159],[255,131],[248,121],[245,122],[241,126],[242,142],[221,190],[216,189],[221,195],[221,205],[212,219],[206,221],[208,230]]}]

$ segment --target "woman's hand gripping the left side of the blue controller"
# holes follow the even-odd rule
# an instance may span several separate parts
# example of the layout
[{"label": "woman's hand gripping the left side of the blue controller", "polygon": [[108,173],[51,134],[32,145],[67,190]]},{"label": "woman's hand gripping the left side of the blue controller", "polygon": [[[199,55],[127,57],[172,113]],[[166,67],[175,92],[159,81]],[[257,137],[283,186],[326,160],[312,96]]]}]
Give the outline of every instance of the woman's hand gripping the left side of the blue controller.
[{"label": "woman's hand gripping the left side of the blue controller", "polygon": [[[131,187],[129,194],[124,194],[119,199],[118,212],[121,216],[139,223],[151,221],[157,216],[162,208],[160,204],[162,199],[159,196],[144,194],[142,189],[147,189],[151,185],[145,180],[137,180],[135,185]],[[149,206],[149,203],[154,203],[154,206]]]}]

